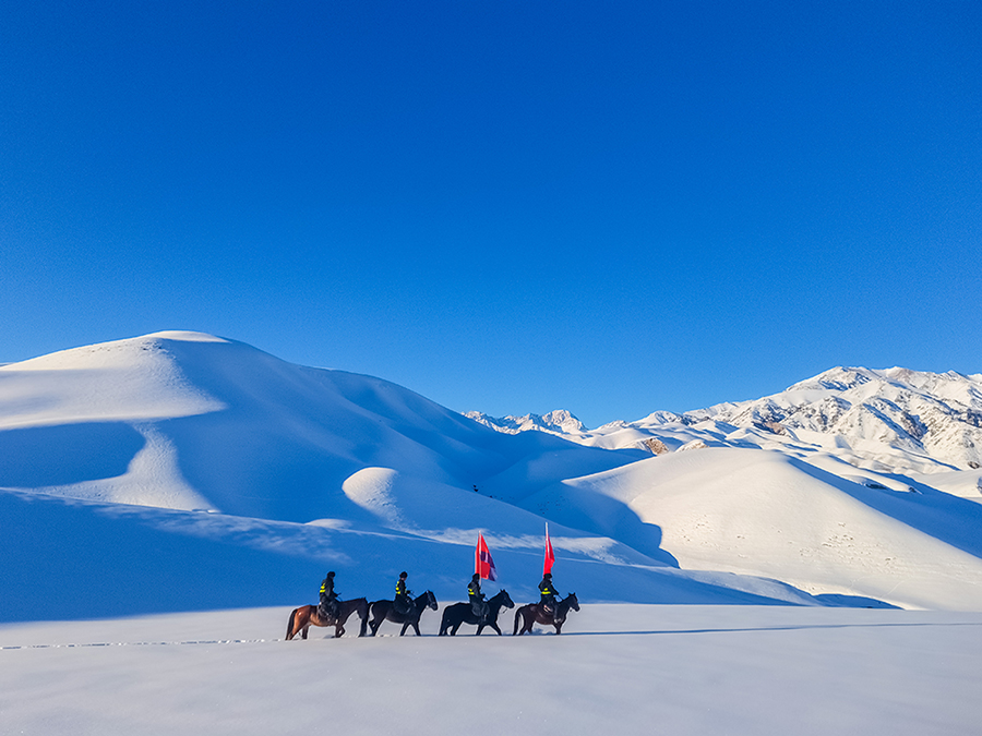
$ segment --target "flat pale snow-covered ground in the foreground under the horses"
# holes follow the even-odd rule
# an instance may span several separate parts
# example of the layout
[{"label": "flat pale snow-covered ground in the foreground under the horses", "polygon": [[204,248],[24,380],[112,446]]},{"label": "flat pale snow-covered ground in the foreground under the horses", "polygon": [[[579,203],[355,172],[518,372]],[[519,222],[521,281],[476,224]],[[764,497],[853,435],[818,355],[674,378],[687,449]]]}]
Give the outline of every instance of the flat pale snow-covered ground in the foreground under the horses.
[{"label": "flat pale snow-covered ground in the foreground under the horses", "polygon": [[287,615],[0,626],[0,733],[969,736],[982,722],[977,613],[596,604],[560,637],[436,637],[428,613],[420,638],[385,624],[290,642]]}]

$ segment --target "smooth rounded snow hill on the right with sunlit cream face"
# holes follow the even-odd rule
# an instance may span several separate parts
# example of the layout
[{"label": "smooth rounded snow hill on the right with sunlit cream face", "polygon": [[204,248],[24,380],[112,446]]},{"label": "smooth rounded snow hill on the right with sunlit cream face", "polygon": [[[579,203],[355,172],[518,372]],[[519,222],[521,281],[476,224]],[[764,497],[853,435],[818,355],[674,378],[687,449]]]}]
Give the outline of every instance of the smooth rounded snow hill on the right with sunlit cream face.
[{"label": "smooth rounded snow hill on the right with sunlit cream face", "polygon": [[[604,512],[608,504],[615,514]],[[982,505],[926,487],[869,487],[778,453],[652,457],[563,481],[526,507],[639,552],[658,529],[651,543],[683,569],[901,606],[982,610]]]}]

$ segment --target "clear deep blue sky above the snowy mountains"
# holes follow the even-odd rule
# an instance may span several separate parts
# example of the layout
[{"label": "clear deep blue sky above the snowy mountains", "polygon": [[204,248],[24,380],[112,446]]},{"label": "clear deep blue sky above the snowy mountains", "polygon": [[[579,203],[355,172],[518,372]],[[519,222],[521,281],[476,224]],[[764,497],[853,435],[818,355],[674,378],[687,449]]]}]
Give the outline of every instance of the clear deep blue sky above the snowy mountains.
[{"label": "clear deep blue sky above the snowy mountains", "polygon": [[982,3],[7,2],[0,361],[194,329],[596,426],[982,372]]}]

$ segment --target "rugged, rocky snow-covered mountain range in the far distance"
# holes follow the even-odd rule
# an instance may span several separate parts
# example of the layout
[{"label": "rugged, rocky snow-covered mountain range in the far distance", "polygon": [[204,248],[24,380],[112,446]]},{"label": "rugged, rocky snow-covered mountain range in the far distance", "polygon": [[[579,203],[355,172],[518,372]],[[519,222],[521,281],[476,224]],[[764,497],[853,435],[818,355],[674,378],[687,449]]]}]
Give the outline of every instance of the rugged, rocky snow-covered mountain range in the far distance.
[{"label": "rugged, rocky snow-covered mountain range in the far distance", "polygon": [[751,401],[587,430],[572,413],[494,419],[498,432],[548,432],[583,445],[663,454],[693,447],[759,447],[825,454],[859,468],[931,473],[982,467],[982,375],[901,367],[835,367]]}]

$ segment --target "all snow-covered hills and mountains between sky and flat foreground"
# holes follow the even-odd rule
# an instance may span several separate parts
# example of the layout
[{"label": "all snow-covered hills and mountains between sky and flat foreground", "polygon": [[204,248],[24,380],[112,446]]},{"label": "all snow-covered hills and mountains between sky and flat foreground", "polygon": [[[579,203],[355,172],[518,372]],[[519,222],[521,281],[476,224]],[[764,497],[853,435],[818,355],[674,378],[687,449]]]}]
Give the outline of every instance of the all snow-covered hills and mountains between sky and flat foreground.
[{"label": "all snow-covered hills and mountains between sky and flat foreground", "polygon": [[279,605],[325,567],[347,594],[411,568],[459,595],[479,530],[528,598],[546,521],[584,600],[982,610],[978,411],[977,376],[857,369],[592,432],[489,429],[197,333],[65,350],[0,367],[0,618],[55,581],[60,615]]}]

